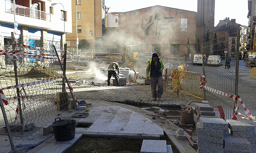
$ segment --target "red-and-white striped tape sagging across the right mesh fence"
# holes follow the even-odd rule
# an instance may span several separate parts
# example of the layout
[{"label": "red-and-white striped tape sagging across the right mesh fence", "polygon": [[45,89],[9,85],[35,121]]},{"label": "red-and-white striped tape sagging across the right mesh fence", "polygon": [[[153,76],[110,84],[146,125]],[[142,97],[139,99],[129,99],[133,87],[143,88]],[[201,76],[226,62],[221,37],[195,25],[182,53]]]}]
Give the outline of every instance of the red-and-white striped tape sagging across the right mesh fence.
[{"label": "red-and-white striped tape sagging across the right mesh fence", "polygon": [[238,111],[239,107],[236,104],[235,113],[234,113],[234,115],[233,115],[233,117],[231,119],[237,120],[237,114],[239,114],[239,116],[242,119],[249,119],[249,120],[251,120],[253,122],[256,122],[256,116],[252,116],[252,114],[247,109],[247,107],[245,106],[243,100],[241,99],[241,97],[239,95],[230,95],[230,94],[224,93],[223,91],[219,91],[219,90],[216,90],[216,89],[213,89],[213,88],[209,87],[208,85],[206,85],[205,76],[204,76],[204,79],[200,79],[200,88],[201,88],[201,86],[204,87],[206,90],[213,92],[214,94],[219,94],[219,95],[222,95],[222,96],[227,96],[227,97],[233,98],[234,104],[236,104],[236,100],[239,100],[240,104],[243,106],[244,113],[246,114],[246,116],[244,116],[243,114],[239,113],[239,111]]}]

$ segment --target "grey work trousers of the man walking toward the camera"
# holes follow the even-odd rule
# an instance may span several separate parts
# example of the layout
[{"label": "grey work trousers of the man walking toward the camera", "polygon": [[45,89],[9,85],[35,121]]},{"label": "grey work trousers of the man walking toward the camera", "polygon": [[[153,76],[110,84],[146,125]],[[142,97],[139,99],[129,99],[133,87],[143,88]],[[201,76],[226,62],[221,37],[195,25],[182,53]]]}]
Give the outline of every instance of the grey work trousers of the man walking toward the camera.
[{"label": "grey work trousers of the man walking toward the camera", "polygon": [[160,77],[150,77],[151,92],[153,98],[162,98],[163,95],[163,79]]}]

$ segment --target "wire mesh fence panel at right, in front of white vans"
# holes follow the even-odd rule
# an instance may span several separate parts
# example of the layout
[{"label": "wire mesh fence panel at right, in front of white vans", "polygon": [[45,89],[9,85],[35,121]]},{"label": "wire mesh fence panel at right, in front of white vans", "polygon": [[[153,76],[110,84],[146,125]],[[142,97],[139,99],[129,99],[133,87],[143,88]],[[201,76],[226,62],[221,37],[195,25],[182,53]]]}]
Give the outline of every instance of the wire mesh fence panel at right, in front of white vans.
[{"label": "wire mesh fence panel at right, in front of white vans", "polygon": [[[226,34],[202,44],[203,72],[207,86],[230,95],[236,94],[236,69],[239,64],[239,60],[236,62],[236,59],[239,56],[239,43],[238,34]],[[232,117],[232,98],[206,91],[206,99],[215,108],[217,117],[220,116],[218,105],[223,108],[225,119]]]}]

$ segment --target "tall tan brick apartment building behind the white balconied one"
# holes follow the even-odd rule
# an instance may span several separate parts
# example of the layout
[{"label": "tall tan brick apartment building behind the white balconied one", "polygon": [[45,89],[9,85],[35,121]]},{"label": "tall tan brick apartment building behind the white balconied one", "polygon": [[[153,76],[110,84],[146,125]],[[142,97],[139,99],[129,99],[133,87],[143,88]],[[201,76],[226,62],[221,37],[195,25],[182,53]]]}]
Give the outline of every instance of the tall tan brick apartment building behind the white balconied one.
[{"label": "tall tan brick apartment building behind the white balconied one", "polygon": [[76,48],[76,28],[79,41],[86,40],[87,49],[95,51],[105,33],[105,0],[72,0],[72,32],[66,37],[70,48]]}]

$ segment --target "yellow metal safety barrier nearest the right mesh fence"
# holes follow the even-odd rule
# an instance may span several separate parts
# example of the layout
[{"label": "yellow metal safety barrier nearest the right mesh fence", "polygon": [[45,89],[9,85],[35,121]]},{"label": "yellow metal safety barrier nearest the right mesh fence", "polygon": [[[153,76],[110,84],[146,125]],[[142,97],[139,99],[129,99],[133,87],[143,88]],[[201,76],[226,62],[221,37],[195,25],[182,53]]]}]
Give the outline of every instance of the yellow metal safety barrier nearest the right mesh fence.
[{"label": "yellow metal safety barrier nearest the right mesh fence", "polygon": [[204,100],[204,90],[200,89],[201,74],[189,71],[176,71],[178,91]]}]

